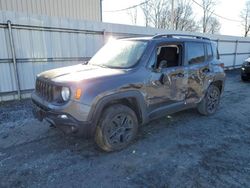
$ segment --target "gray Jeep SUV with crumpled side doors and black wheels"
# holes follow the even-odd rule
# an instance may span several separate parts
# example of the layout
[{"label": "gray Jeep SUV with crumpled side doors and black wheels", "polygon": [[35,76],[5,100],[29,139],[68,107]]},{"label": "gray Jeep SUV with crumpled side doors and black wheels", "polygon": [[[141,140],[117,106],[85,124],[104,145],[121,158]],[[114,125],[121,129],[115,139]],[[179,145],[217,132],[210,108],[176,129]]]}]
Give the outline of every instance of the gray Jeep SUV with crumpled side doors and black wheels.
[{"label": "gray Jeep SUV with crumpled side doors and black wheels", "polygon": [[39,120],[114,151],[152,119],[195,107],[214,114],[224,82],[216,43],[156,35],[110,41],[88,63],[37,75],[32,100]]}]

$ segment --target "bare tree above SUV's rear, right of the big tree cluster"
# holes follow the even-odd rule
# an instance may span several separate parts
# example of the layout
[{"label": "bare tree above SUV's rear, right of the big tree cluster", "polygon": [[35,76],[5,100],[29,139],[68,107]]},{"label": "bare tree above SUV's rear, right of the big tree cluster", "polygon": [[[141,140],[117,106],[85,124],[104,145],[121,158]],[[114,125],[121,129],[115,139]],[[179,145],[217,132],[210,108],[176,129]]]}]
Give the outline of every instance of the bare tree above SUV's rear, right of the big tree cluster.
[{"label": "bare tree above SUV's rear, right of the big tree cluster", "polygon": [[213,17],[216,6],[215,0],[202,0],[203,17],[202,17],[202,32],[212,33],[212,31],[219,32],[219,21]]}]

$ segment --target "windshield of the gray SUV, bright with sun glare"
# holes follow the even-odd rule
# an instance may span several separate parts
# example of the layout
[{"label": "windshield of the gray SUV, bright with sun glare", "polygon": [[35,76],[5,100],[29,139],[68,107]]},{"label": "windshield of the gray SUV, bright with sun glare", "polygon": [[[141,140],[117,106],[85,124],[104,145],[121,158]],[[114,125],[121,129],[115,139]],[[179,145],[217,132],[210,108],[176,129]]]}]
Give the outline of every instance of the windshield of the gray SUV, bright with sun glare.
[{"label": "windshield of the gray SUV, bright with sun glare", "polygon": [[110,68],[129,68],[141,58],[145,41],[114,40],[104,45],[89,61],[91,65]]}]

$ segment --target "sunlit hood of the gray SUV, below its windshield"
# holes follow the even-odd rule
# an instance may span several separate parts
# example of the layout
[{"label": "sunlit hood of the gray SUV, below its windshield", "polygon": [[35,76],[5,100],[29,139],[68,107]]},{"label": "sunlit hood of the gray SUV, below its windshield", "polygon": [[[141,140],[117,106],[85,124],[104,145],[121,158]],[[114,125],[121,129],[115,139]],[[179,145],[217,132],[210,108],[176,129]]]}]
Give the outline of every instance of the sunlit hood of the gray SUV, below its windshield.
[{"label": "sunlit hood of the gray SUV, below its windshield", "polygon": [[78,82],[87,79],[123,74],[121,69],[102,68],[93,65],[74,65],[42,72],[38,77],[54,82]]}]

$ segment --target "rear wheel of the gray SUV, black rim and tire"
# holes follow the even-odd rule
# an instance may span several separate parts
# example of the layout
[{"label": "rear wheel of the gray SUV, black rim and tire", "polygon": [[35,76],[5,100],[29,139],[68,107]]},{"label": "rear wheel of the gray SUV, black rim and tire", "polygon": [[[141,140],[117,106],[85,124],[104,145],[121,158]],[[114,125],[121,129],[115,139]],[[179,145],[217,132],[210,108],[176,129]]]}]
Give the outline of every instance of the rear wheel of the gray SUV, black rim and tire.
[{"label": "rear wheel of the gray SUV, black rim and tire", "polygon": [[202,101],[198,104],[198,111],[202,115],[212,115],[214,114],[220,103],[220,90],[215,85],[210,85],[206,95],[202,99]]}]

